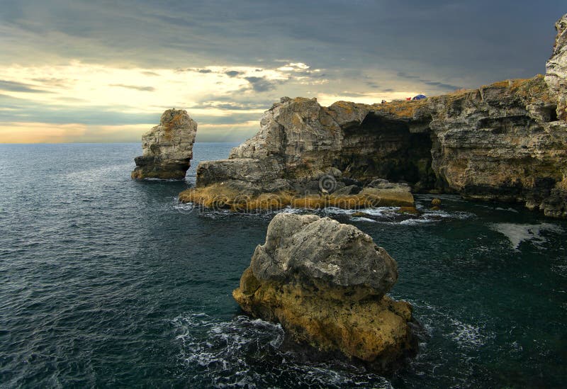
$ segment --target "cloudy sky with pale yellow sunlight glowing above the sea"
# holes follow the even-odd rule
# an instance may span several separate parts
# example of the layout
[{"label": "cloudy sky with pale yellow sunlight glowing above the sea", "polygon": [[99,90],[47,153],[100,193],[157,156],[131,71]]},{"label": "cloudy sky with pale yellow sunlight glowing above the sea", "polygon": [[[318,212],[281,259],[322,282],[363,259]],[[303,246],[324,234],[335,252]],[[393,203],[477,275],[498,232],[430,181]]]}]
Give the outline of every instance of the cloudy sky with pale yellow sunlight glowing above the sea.
[{"label": "cloudy sky with pale yellow sunlight glowing above the sea", "polygon": [[241,142],[281,96],[377,103],[545,72],[561,1],[0,0],[0,142]]}]

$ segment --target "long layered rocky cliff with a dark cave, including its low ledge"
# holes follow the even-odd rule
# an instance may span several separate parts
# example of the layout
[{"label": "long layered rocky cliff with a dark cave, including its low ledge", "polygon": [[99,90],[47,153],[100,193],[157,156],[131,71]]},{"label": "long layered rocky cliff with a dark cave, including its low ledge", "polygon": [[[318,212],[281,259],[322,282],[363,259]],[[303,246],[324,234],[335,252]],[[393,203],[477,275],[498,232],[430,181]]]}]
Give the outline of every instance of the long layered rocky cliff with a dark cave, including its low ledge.
[{"label": "long layered rocky cliff with a dark cave, including its low ledge", "polygon": [[[376,203],[366,188],[386,179],[567,218],[566,26],[563,16],[545,77],[373,105],[282,98],[228,159],[200,164],[196,188],[180,200],[206,204],[213,194],[239,193],[258,205],[259,196],[272,193],[292,198],[291,205],[346,201],[356,208]],[[330,190],[322,190],[324,180]],[[378,204],[412,205],[404,191],[388,200],[374,189]],[[303,197],[294,203],[293,196]]]}]

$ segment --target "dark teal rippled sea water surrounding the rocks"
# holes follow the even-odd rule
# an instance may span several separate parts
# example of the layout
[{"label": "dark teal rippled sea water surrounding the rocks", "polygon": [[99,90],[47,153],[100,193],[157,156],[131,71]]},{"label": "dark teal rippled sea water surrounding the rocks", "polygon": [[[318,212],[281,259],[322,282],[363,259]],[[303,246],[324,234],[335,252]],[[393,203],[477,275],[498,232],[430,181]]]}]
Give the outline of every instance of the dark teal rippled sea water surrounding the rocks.
[{"label": "dark teal rippled sea water surrounding the rocks", "polygon": [[176,202],[232,146],[196,144],[187,182],[140,182],[139,145],[0,145],[0,387],[565,385],[567,223],[454,196],[415,220],[320,212],[398,261],[417,359],[383,378],[280,351],[230,294],[271,215]]}]

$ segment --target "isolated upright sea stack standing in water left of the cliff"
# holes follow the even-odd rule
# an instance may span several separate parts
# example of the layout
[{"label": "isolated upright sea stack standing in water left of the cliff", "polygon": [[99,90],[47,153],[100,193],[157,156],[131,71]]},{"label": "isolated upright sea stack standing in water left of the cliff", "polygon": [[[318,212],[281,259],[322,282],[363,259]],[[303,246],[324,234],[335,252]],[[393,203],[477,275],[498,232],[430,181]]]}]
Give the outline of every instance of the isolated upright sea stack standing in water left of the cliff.
[{"label": "isolated upright sea stack standing in water left of the cliff", "polygon": [[133,179],[184,179],[193,157],[197,123],[186,111],[168,109],[159,125],[142,135]]}]

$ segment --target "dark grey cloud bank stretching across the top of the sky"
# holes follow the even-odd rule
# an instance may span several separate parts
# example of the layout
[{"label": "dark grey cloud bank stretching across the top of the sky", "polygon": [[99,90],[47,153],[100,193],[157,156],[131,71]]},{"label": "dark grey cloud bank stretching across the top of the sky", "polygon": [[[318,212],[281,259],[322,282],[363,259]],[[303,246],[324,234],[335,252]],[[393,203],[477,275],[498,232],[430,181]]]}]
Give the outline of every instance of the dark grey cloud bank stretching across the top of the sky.
[{"label": "dark grey cloud bank stretching across the top of the sky", "polygon": [[286,58],[335,69],[419,67],[426,79],[529,77],[543,71],[565,11],[563,0],[5,0],[4,42],[19,45],[0,60],[25,48],[33,56],[22,61],[264,67]]}]

